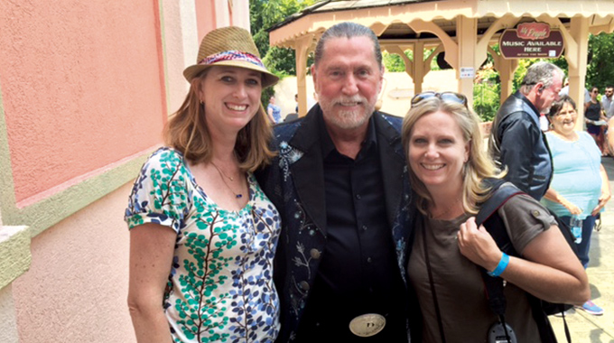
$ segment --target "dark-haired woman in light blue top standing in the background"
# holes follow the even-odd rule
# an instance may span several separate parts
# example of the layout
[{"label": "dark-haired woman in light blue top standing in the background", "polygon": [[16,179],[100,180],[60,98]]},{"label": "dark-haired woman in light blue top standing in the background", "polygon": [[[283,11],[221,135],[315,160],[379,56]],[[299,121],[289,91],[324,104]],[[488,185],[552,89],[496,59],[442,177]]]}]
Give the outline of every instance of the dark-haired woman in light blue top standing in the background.
[{"label": "dark-haired woman in light blue top standing in the background", "polygon": [[[546,139],[553,155],[554,176],[542,203],[567,225],[572,216],[582,220],[577,248],[586,268],[595,218],[610,198],[608,174],[595,141],[589,134],[575,130],[578,113],[571,97],[563,96],[554,102],[548,116],[552,130],[546,133]],[[579,308],[594,315],[603,314],[603,309],[591,300]]]}]

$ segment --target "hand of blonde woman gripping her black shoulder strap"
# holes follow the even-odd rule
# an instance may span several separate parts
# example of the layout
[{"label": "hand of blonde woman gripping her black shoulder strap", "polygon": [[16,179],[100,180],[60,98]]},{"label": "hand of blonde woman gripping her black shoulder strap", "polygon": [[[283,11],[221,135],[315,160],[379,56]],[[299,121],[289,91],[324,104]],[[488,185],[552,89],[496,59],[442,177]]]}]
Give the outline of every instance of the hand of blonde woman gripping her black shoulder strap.
[{"label": "hand of blonde woman gripping her black shoulder strap", "polygon": [[460,254],[471,262],[479,264],[487,271],[497,268],[502,255],[501,250],[486,228],[476,225],[476,218],[471,217],[460,224],[457,239]]}]

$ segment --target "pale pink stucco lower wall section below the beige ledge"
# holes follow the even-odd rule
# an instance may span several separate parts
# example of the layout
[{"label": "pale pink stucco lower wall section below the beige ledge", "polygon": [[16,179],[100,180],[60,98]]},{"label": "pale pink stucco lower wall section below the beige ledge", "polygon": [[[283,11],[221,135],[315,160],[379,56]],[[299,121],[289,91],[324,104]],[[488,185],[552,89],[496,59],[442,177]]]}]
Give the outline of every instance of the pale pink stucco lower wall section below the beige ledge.
[{"label": "pale pink stucco lower wall section below the beige ledge", "polygon": [[129,239],[121,214],[132,185],[32,241],[32,266],[13,283],[21,343],[135,342],[126,305]]}]

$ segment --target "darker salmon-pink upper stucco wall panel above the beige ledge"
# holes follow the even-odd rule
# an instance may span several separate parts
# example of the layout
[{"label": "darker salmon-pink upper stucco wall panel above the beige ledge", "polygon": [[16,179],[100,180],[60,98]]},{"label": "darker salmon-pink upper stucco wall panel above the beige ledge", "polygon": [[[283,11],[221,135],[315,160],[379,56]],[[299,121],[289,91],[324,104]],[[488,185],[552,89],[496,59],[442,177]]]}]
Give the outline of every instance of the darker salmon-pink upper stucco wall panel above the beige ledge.
[{"label": "darker salmon-pink upper stucco wall panel above the beige ledge", "polygon": [[18,206],[161,141],[158,1],[0,1],[0,32]]}]

